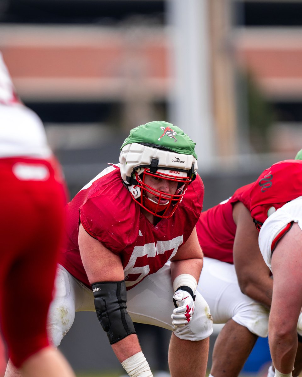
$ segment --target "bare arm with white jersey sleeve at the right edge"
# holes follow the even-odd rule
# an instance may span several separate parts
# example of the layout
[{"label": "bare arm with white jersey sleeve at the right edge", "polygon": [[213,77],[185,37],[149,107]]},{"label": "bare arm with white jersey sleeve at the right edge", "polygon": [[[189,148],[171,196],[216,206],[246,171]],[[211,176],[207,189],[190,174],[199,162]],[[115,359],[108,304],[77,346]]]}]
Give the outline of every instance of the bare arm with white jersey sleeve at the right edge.
[{"label": "bare arm with white jersey sleeve at the right edge", "polygon": [[[269,343],[276,377],[292,376],[297,332],[300,340],[302,339],[301,245],[302,197],[300,196],[273,213],[264,222],[259,233],[261,253],[274,276]],[[288,308],[291,312],[286,320],[280,316],[284,308]]]}]

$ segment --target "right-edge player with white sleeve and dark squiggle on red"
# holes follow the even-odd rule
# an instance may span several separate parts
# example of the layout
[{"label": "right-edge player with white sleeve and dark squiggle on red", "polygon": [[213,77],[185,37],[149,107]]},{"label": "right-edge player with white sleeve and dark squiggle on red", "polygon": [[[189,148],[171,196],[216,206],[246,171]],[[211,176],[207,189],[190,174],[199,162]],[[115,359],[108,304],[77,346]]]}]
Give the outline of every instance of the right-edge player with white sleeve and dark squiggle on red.
[{"label": "right-edge player with white sleeve and dark squiggle on red", "polygon": [[260,175],[251,189],[251,215],[274,277],[268,339],[275,377],[290,377],[297,331],[302,336],[302,161],[281,161]]}]

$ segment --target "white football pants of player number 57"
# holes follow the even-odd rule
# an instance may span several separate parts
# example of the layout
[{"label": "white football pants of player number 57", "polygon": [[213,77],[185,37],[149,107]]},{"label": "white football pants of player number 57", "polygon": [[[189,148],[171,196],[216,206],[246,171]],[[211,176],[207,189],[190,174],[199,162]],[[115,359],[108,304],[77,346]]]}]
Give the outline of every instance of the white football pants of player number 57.
[{"label": "white football pants of player number 57", "polygon": [[[174,329],[171,319],[173,294],[170,267],[166,264],[127,291],[127,311],[133,322],[163,327],[174,331],[180,339],[197,341],[210,336],[213,332],[210,309],[198,292],[192,320],[182,328]],[[59,265],[55,297],[48,314],[48,332],[55,346],[71,328],[76,311],[95,311],[93,293]]]}]

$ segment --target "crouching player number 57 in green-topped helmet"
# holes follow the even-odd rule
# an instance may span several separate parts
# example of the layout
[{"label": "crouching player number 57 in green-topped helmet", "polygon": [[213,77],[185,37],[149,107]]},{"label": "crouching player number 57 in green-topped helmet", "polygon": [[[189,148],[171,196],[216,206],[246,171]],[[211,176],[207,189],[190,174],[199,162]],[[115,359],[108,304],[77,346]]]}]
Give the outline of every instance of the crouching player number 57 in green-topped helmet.
[{"label": "crouching player number 57 in green-topped helmet", "polygon": [[[177,133],[176,142],[158,140],[163,126]],[[195,224],[204,187],[194,146],[166,122],[136,127],[121,147],[120,164],[67,205],[68,241],[49,315],[55,345],[75,311],[96,310],[129,376],[152,376],[133,322],[173,331],[172,377],[205,376],[212,319],[196,292],[203,259]]]}]

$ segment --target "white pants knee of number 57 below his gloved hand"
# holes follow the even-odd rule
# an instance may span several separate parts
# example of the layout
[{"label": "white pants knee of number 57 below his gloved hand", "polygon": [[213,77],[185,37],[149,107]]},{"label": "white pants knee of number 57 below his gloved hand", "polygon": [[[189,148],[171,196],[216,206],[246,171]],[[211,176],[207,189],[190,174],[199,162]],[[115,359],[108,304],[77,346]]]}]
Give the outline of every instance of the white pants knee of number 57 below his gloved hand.
[{"label": "white pants knee of number 57 below his gloved hand", "polygon": [[174,330],[174,334],[183,340],[198,341],[209,337],[213,333],[213,318],[210,308],[202,295],[196,291],[195,311],[191,321]]}]

